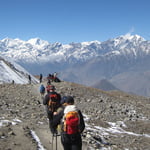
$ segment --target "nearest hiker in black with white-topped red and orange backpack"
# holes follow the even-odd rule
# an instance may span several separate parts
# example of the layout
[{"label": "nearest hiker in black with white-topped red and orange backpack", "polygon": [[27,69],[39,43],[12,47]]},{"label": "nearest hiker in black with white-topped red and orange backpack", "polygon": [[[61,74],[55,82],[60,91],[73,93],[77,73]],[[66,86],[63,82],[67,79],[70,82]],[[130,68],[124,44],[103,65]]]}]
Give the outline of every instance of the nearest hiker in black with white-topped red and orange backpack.
[{"label": "nearest hiker in black with white-topped red and orange backpack", "polygon": [[61,143],[64,150],[81,150],[81,133],[85,128],[83,115],[74,105],[72,96],[67,96],[63,105],[62,111],[54,112],[52,127],[55,129],[61,122]]}]

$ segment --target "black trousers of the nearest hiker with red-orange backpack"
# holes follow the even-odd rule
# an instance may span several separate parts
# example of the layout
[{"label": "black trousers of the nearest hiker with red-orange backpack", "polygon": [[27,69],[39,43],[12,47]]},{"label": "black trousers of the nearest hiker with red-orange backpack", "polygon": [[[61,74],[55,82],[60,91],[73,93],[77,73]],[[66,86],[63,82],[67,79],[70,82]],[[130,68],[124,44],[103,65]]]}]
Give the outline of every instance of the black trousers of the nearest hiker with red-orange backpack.
[{"label": "black trousers of the nearest hiker with red-orange backpack", "polygon": [[80,133],[77,134],[61,134],[61,142],[64,150],[82,150],[82,139]]}]

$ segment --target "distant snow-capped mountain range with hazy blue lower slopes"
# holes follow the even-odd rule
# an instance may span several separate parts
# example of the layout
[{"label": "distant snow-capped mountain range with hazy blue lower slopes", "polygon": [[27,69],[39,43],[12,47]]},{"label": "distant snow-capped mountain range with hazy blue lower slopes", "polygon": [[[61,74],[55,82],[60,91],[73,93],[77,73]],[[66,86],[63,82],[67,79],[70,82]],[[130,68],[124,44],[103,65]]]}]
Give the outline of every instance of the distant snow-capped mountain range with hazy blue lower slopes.
[{"label": "distant snow-capped mountain range with hazy blue lower slopes", "polygon": [[[56,71],[63,80],[92,86],[107,79],[126,92],[139,94],[140,86],[140,91],[145,89],[140,94],[147,96],[149,87],[144,83],[150,82],[150,41],[139,35],[67,45],[39,38],[28,41],[6,38],[0,41],[0,52],[32,74]],[[137,81],[142,82],[142,87],[137,86]]]}]

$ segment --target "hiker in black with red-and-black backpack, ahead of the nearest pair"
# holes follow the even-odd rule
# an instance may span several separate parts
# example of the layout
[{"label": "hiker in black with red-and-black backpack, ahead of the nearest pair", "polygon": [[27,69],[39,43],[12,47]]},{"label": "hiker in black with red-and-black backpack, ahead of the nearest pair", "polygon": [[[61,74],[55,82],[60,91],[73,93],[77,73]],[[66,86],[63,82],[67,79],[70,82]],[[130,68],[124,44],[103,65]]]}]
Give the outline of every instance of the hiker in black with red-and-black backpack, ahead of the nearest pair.
[{"label": "hiker in black with red-and-black backpack, ahead of the nearest pair", "polygon": [[43,99],[43,105],[46,105],[47,117],[49,119],[49,128],[52,133],[54,129],[52,128],[53,113],[60,107],[61,95],[57,93],[54,85],[51,85],[49,93]]}]

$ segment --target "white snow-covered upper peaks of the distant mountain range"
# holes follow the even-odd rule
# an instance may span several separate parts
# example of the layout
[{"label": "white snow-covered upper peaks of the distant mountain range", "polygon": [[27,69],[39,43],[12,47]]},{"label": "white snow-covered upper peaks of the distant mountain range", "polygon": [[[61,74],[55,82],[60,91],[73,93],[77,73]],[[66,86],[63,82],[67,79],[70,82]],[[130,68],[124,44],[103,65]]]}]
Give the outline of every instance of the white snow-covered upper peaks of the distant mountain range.
[{"label": "white snow-covered upper peaks of the distant mountain range", "polygon": [[[116,39],[105,42],[91,41],[82,43],[49,43],[39,38],[22,41],[19,39],[3,39],[0,41],[0,51],[4,56],[12,57],[15,61],[25,61],[30,63],[67,61],[86,61],[95,56],[101,56],[112,52],[113,54],[138,53],[137,47],[146,42],[139,35],[126,34]],[[132,49],[131,49],[132,48]],[[128,51],[127,51],[128,49]],[[114,53],[115,51],[115,53]],[[141,49],[145,53],[145,48]],[[147,51],[147,50],[146,50]],[[147,52],[150,53],[150,50]],[[136,54],[135,54],[136,55]],[[59,59],[58,59],[59,58]]]}]

